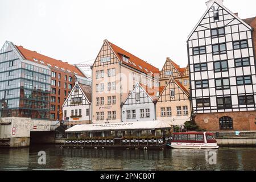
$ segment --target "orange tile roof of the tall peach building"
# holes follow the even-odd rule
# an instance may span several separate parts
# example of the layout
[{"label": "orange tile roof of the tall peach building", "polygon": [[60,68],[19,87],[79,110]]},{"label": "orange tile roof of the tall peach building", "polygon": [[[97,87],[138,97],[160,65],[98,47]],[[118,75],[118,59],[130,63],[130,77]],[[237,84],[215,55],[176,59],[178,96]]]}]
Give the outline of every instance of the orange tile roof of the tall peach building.
[{"label": "orange tile roof of the tall peach building", "polygon": [[[115,52],[115,54],[118,56],[118,59],[122,61],[123,64],[128,65],[131,68],[137,69],[138,71],[141,71],[145,74],[150,74],[151,72],[153,73],[153,77],[158,77],[158,74],[160,73],[159,69],[154,67],[153,65],[147,63],[146,61],[143,61],[142,59],[139,59],[138,57],[132,55],[130,52],[127,52],[125,50],[123,50],[122,48],[115,46],[115,44],[108,42],[110,44],[110,46],[112,47],[113,51]],[[127,63],[126,61],[123,61],[122,56],[125,55],[126,57],[129,57],[129,63]],[[134,64],[135,65],[134,65]],[[142,67],[139,68],[139,66]],[[145,68],[147,69],[147,71],[145,70]]]}]

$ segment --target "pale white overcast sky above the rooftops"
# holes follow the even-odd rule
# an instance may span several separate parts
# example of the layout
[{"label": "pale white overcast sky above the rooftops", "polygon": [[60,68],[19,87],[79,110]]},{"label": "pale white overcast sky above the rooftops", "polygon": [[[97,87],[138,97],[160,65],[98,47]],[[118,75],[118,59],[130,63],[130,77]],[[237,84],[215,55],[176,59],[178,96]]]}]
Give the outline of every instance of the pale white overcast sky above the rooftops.
[{"label": "pale white overcast sky above the rooftops", "polygon": [[[103,40],[162,69],[166,57],[187,65],[187,36],[206,0],[0,0],[0,44],[6,40],[70,64],[94,60]],[[224,0],[240,18],[255,0]],[[93,61],[90,61],[91,63]]]}]

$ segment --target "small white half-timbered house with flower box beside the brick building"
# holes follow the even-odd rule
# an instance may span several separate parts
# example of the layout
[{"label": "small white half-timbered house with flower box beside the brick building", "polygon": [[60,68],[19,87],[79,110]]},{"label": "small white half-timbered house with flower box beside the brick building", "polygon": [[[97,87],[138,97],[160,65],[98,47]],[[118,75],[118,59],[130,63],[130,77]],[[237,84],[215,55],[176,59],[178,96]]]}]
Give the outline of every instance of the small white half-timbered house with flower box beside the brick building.
[{"label": "small white half-timbered house with flower box beside the brick building", "polygon": [[92,86],[76,82],[63,104],[63,120],[72,127],[77,124],[90,124],[92,111]]}]

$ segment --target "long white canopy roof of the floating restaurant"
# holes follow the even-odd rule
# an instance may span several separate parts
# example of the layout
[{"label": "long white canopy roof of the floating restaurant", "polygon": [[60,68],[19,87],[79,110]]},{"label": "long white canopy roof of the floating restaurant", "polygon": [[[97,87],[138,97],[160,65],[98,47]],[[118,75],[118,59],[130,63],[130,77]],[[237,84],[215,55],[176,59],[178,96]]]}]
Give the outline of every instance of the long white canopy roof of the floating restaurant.
[{"label": "long white canopy roof of the floating restaurant", "polygon": [[122,123],[101,123],[90,125],[75,125],[65,130],[67,133],[95,132],[95,131],[125,131],[125,130],[155,130],[170,129],[170,123],[166,121],[137,121]]}]

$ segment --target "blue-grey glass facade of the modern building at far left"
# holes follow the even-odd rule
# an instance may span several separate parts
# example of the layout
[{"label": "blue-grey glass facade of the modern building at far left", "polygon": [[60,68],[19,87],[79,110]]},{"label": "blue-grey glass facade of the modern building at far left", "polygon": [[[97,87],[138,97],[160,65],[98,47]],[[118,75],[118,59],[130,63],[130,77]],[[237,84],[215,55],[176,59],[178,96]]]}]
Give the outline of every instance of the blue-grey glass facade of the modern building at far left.
[{"label": "blue-grey glass facade of the modern building at far left", "polygon": [[19,57],[10,42],[0,51],[0,116],[49,119],[51,71]]}]

